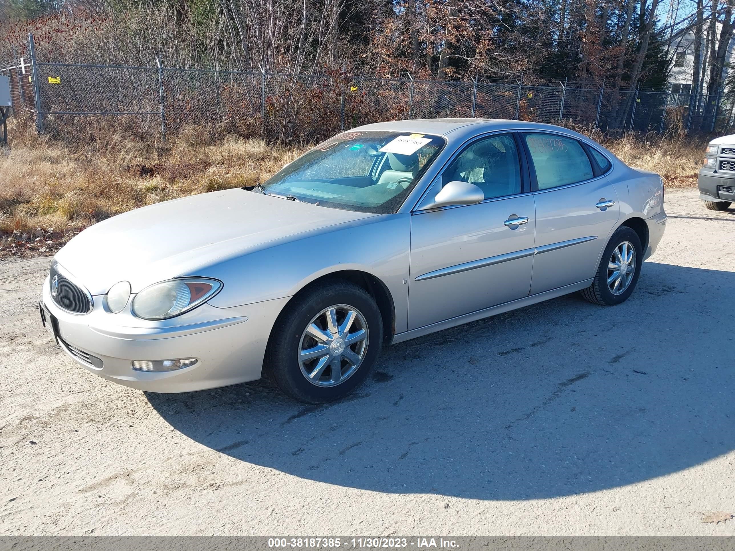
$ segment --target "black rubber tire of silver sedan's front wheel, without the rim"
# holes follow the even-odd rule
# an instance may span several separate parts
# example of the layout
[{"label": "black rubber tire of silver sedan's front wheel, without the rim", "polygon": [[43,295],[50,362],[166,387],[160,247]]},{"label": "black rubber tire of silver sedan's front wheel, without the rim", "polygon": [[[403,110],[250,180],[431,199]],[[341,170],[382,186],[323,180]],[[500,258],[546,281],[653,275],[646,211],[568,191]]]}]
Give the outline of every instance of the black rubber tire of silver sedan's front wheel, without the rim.
[{"label": "black rubber tire of silver sedan's front wheel, without the rim", "polygon": [[[348,305],[359,311],[367,325],[365,356],[357,369],[334,386],[317,386],[301,371],[298,354],[306,326],[330,306]],[[348,395],[368,378],[378,359],[383,342],[383,318],[373,297],[355,284],[331,280],[306,289],[279,315],[265,354],[264,369],[268,377],[290,397],[304,403],[326,403]],[[349,364],[345,364],[349,367]],[[326,368],[326,372],[331,369]]]}]

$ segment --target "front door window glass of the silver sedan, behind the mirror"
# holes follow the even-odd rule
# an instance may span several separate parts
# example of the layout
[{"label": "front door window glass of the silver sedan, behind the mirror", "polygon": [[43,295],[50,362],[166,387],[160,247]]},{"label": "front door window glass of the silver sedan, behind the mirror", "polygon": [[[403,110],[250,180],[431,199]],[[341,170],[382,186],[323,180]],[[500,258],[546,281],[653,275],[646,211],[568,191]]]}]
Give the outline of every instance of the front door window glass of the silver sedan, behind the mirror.
[{"label": "front door window glass of the silver sedan, behind the mirror", "polygon": [[442,173],[442,186],[456,180],[475,184],[486,199],[520,193],[520,165],[512,135],[488,137],[462,151]]}]

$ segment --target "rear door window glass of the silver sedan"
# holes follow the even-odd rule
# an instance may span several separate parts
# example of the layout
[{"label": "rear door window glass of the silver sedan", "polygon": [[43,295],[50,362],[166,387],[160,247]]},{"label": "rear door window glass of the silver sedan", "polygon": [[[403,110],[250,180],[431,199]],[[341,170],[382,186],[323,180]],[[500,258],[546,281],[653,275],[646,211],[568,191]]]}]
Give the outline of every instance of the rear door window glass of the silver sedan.
[{"label": "rear door window glass of the silver sedan", "polygon": [[577,140],[556,134],[526,134],[539,190],[593,178],[592,164]]}]

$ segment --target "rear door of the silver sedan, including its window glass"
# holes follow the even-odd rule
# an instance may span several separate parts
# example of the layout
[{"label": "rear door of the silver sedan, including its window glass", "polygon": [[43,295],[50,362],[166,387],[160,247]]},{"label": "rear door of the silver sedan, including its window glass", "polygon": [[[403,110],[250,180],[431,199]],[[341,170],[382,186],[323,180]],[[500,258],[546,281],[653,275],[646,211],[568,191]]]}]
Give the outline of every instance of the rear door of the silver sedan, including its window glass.
[{"label": "rear door of the silver sedan, including its window glass", "polygon": [[580,141],[529,132],[523,145],[536,206],[535,295],[594,277],[620,206],[605,170]]}]

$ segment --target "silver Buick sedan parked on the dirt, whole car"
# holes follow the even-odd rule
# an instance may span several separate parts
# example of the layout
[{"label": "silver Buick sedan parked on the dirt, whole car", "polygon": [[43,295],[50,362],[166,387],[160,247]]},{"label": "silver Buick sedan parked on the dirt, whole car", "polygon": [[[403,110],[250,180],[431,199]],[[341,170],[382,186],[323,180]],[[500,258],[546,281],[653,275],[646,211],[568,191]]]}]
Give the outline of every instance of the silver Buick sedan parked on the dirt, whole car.
[{"label": "silver Buick sedan parked on the dirt, whole car", "polygon": [[187,392],[265,372],[321,403],[391,343],[576,291],[622,303],[663,204],[658,175],[558,126],[370,124],[257,187],[82,231],[54,257],[40,314],[116,383]]}]

